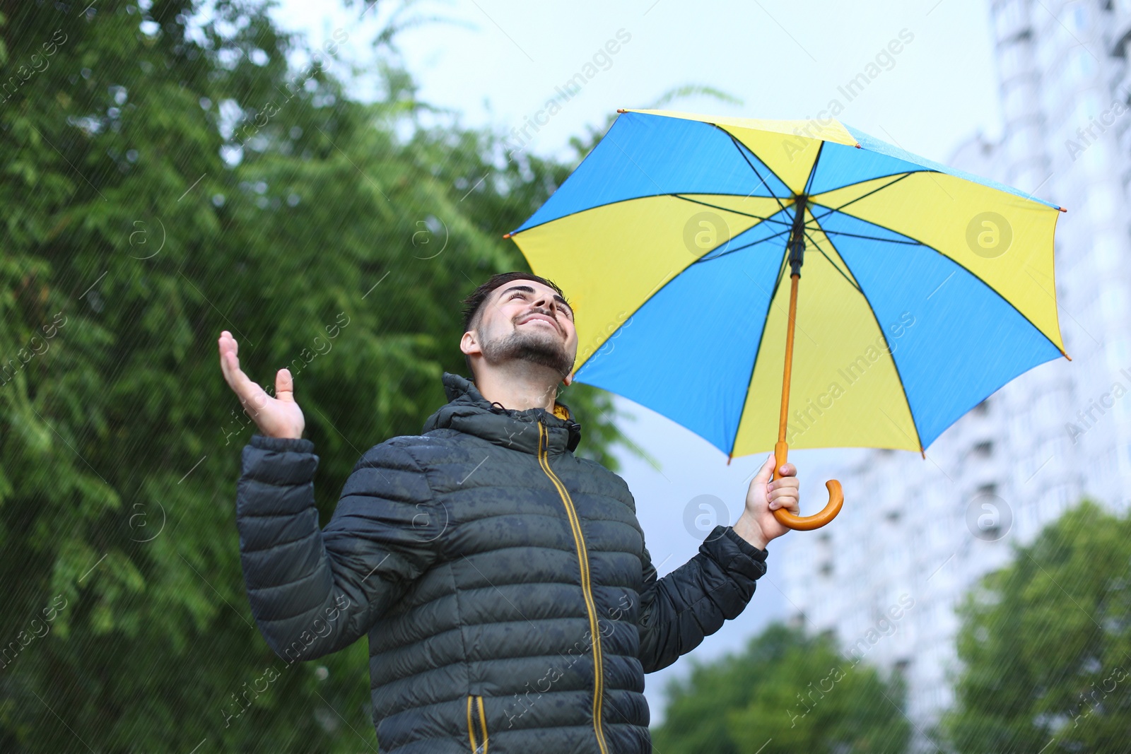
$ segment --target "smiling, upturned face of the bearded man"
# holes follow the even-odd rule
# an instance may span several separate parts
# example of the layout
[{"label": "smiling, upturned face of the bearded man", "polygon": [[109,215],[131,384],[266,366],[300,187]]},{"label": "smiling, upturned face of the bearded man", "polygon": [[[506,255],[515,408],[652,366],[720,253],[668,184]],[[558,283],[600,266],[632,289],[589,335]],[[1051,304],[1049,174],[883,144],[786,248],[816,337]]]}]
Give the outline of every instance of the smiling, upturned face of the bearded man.
[{"label": "smiling, upturned face of the bearded man", "polygon": [[464,336],[460,348],[465,354],[477,350],[489,365],[518,358],[566,376],[577,357],[573,311],[542,283],[511,280],[491,292],[478,328]]}]

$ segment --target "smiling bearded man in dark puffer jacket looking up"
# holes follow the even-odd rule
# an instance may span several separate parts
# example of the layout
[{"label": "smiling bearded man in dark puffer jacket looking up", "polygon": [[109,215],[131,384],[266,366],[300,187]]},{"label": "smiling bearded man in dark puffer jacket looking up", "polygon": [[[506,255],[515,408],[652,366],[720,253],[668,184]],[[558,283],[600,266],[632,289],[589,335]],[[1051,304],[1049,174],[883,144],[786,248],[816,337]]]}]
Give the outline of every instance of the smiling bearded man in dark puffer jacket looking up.
[{"label": "smiling bearded man in dark puffer jacket looking up", "polygon": [[562,292],[497,275],[464,318],[473,381],[446,372],[449,402],[422,435],[365,452],[323,530],[290,372],[267,396],[221,335],[261,433],[236,508],[259,630],[291,661],[368,632],[381,752],[650,754],[644,674],[746,606],[787,531],[771,510],[797,512],[794,468],[770,483],[771,456],[734,527],[657,579],[624,480],[573,456],[581,427],[555,400],[577,355]]}]

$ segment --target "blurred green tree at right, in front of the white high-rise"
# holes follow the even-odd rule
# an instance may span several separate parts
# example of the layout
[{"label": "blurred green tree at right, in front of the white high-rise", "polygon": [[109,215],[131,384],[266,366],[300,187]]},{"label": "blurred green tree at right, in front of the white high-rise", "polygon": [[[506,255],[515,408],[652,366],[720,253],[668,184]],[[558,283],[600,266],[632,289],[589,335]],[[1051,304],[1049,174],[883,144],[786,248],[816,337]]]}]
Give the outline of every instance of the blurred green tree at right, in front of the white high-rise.
[{"label": "blurred green tree at right, in front of the white high-rise", "polygon": [[966,598],[942,728],[959,752],[1128,752],[1131,515],[1085,501]]}]

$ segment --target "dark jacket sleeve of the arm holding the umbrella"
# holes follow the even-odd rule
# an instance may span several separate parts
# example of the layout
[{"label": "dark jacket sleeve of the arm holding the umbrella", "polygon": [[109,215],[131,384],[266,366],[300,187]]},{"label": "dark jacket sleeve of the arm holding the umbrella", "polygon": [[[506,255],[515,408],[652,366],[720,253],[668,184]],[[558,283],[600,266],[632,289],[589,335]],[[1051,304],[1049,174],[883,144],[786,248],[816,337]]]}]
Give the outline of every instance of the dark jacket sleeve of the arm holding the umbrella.
[{"label": "dark jacket sleeve of the arm holding the umbrella", "polygon": [[694,557],[656,579],[645,548],[639,613],[644,671],[666,668],[742,613],[766,573],[767,555],[731,527],[717,526]]}]

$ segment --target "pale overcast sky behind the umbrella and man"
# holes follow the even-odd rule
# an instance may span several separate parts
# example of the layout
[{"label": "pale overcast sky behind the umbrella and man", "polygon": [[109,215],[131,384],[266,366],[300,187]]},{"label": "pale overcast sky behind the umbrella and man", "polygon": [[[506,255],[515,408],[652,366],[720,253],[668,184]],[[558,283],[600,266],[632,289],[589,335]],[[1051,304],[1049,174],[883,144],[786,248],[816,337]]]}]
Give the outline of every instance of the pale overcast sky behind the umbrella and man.
[{"label": "pale overcast sky behind the umbrella and man", "polygon": [[[283,27],[304,32],[316,46],[344,29],[349,38],[338,57],[365,70],[374,60],[370,41],[388,19],[383,5],[366,10],[361,0],[348,9],[333,1],[280,0],[275,17]],[[421,99],[459,113],[466,125],[520,130],[556,95],[555,87],[586,75],[585,86],[545,125],[527,128],[528,142],[519,137],[534,153],[569,155],[571,136],[603,125],[618,107],[646,107],[689,85],[713,87],[739,102],[694,96],[668,109],[795,119],[817,116],[835,101],[843,109],[841,121],[940,162],[978,131],[990,137],[1001,132],[984,0],[694,6],[676,0],[458,0],[422,3],[416,15],[444,20],[399,36],[404,62],[421,86]],[[606,47],[610,41],[616,43]],[[616,52],[610,54],[612,49]],[[858,73],[870,77],[869,85],[851,96],[844,89]],[[362,79],[356,94],[371,96],[371,83]],[[638,417],[624,430],[661,462],[655,469],[624,454],[622,476],[636,497],[648,548],[666,573],[694,555],[703,536],[687,530],[687,511],[694,518],[717,499],[728,511],[725,522],[733,522],[749,477],[765,457],[739,458],[727,466],[726,457],[705,440],[648,409],[623,405]],[[813,512],[827,496],[823,479],[806,477],[806,466],[853,452],[858,451],[791,454],[802,477],[803,512]],[[806,500],[813,501],[808,508]],[[813,535],[787,535],[804,536]],[[746,612],[689,657],[707,660],[741,650],[768,621],[788,614],[787,598],[777,588],[788,566],[780,543],[771,544],[770,553],[769,572]],[[687,662],[685,657],[648,676],[654,720],[661,718],[665,681],[685,673]]]}]

